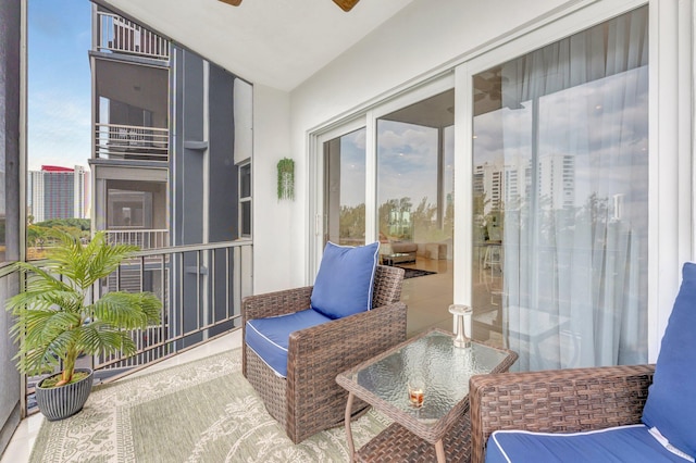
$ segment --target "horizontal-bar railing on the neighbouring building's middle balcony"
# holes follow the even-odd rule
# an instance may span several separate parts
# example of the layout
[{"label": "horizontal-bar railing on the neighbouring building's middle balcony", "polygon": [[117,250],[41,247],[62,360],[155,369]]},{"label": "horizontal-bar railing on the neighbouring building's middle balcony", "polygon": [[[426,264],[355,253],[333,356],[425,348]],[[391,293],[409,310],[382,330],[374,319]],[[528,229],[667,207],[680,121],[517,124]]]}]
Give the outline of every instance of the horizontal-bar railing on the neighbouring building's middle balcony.
[{"label": "horizontal-bar railing on the neighbouring building's middle balcony", "polygon": [[95,158],[169,161],[169,128],[96,124]]}]

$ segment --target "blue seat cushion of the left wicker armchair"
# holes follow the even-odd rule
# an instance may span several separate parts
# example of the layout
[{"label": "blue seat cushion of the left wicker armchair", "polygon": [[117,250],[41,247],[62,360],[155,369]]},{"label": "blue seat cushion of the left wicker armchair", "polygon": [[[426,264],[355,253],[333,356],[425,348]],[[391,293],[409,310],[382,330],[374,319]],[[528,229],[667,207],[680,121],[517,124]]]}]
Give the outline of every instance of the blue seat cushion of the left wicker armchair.
[{"label": "blue seat cushion of the left wicker armchair", "polygon": [[332,318],[312,309],[268,318],[256,318],[247,322],[245,342],[278,376],[287,376],[287,348],[290,333],[322,323]]}]

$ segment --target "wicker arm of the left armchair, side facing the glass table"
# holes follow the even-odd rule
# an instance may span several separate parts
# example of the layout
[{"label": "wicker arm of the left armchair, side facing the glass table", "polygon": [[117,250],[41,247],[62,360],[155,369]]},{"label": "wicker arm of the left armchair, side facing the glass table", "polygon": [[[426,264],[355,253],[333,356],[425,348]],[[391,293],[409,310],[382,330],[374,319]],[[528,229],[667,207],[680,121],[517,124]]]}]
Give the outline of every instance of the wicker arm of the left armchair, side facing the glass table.
[{"label": "wicker arm of the left armchair, side facing the glass table", "polygon": [[320,396],[314,391],[335,391],[326,400],[345,406],[347,392],[336,375],[406,340],[406,304],[397,302],[291,333],[287,397],[300,408],[293,413],[301,415],[302,405],[321,406],[307,400]]}]

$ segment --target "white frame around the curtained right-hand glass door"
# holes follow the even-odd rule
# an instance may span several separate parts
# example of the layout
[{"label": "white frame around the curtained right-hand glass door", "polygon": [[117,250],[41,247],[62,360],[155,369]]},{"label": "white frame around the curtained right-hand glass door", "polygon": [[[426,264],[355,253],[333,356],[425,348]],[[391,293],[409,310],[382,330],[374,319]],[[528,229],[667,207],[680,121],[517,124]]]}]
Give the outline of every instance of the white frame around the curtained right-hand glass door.
[{"label": "white frame around the curtained right-hand glass door", "polygon": [[[472,303],[473,76],[571,34],[646,4],[602,1],[568,14],[501,43],[456,66],[455,126],[455,302]],[[660,37],[658,30],[691,30],[688,4],[652,0],[649,5],[649,187],[648,187],[648,361],[659,342],[681,281],[681,265],[694,256],[694,166],[691,163],[689,70],[679,65],[680,51],[692,52],[691,34]],[[684,20],[683,17],[686,17]],[[679,36],[679,37],[678,37]],[[685,58],[682,58],[685,60]],[[680,126],[683,127],[680,130]],[[673,153],[657,155],[657,153]],[[681,168],[680,168],[681,166]],[[688,166],[688,167],[686,167]],[[684,172],[686,171],[686,172]],[[674,182],[676,179],[676,182]],[[680,195],[689,191],[689,195]]]}]

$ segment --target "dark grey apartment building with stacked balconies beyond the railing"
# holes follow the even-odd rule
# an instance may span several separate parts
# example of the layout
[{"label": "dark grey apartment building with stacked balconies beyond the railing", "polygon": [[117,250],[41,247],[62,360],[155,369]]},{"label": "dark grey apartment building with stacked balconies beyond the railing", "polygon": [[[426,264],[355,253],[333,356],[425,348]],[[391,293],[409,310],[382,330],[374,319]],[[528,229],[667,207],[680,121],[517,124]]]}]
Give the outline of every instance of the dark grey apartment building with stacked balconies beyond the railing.
[{"label": "dark grey apartment building with stacked balconies beyond the railing", "polygon": [[[92,229],[144,250],[250,238],[251,86],[96,4],[89,60]],[[165,311],[186,306],[178,325],[173,314],[164,317],[184,347],[200,340],[200,334],[184,334],[198,326],[201,313],[224,311],[238,297],[233,275],[225,278],[235,290],[226,293],[214,291],[211,279],[215,271],[225,274],[231,259],[241,261],[215,251],[144,259],[111,278],[108,289],[150,290]]]}]

